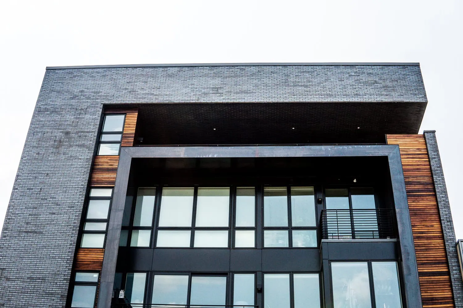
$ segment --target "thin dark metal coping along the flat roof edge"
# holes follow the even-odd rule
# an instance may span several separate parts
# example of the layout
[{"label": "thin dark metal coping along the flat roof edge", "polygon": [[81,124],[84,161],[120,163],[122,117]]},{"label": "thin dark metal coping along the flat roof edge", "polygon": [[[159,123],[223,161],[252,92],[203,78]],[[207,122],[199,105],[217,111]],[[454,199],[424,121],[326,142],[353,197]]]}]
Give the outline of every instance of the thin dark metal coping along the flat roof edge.
[{"label": "thin dark metal coping along the flat roof edge", "polygon": [[173,64],[120,64],[47,66],[47,70],[71,68],[116,68],[116,67],[177,67],[177,66],[419,66],[419,62],[282,62],[282,63],[173,63]]}]

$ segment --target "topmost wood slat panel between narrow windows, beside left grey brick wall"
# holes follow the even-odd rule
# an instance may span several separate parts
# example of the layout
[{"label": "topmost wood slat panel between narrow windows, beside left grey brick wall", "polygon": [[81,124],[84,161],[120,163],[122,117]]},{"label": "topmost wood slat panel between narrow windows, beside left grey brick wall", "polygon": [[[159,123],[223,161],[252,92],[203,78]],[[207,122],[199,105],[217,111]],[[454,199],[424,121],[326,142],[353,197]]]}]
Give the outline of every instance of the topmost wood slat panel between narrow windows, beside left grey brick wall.
[{"label": "topmost wood slat panel between narrow windows, beside left grey brick wall", "polygon": [[119,156],[97,155],[93,163],[90,186],[114,186]]}]

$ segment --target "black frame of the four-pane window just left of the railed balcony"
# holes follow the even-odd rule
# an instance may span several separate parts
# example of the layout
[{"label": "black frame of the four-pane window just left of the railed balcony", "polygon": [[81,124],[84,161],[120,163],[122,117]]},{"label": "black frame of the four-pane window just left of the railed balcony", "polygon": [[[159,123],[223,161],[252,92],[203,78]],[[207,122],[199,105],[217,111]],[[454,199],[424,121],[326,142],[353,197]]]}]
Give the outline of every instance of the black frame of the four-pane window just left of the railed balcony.
[{"label": "black frame of the four-pane window just left of the railed balcony", "polygon": [[[287,197],[287,212],[288,212],[288,226],[287,227],[265,227],[264,226],[264,211],[265,211],[265,187],[286,187],[286,197]],[[313,188],[313,206],[315,209],[315,226],[310,227],[294,227],[292,221],[292,211],[291,211],[291,188],[292,187],[312,187]],[[288,230],[288,247],[265,247],[264,245],[264,232],[265,230]],[[314,230],[316,233],[316,242],[317,245],[313,247],[293,247],[293,230]],[[303,185],[264,185],[262,189],[262,248],[263,249],[315,249],[319,248],[319,220],[318,220],[318,211],[317,211],[317,191],[314,185],[312,186],[303,186]]]}]

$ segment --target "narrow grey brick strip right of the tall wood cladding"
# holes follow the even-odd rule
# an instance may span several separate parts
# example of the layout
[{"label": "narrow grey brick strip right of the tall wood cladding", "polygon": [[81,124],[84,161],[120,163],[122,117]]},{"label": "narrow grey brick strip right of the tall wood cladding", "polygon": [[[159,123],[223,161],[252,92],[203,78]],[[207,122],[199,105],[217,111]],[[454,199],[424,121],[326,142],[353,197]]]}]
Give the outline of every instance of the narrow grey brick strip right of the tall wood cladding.
[{"label": "narrow grey brick strip right of the tall wood cladding", "polygon": [[435,131],[425,131],[424,135],[439,205],[440,221],[444,230],[445,250],[447,251],[447,259],[450,266],[450,278],[452,280],[455,306],[463,307],[463,281],[458,262],[457,240],[455,238],[455,229],[453,229],[449,196],[447,195],[447,187],[445,186],[444,171],[442,170],[442,163],[440,161],[436,133]]}]

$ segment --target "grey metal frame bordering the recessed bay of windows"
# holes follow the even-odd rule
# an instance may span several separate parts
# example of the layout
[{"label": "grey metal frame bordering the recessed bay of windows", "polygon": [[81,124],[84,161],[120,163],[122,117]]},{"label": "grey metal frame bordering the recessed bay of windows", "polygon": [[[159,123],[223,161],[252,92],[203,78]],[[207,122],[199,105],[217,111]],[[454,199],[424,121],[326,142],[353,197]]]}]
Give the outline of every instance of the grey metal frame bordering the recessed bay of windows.
[{"label": "grey metal frame bordering the recessed bay of windows", "polygon": [[97,308],[106,308],[111,301],[119,250],[120,225],[132,158],[143,157],[361,157],[386,156],[394,192],[395,211],[400,236],[400,251],[406,286],[408,308],[421,306],[419,278],[408,211],[407,193],[398,145],[312,145],[312,146],[220,146],[220,147],[126,147],[121,149],[113,206],[111,209],[106,248],[101,270]]}]

